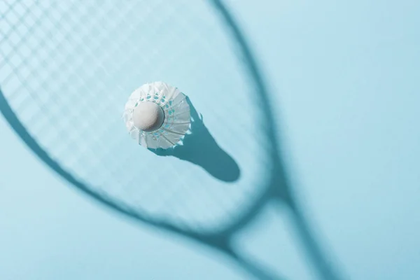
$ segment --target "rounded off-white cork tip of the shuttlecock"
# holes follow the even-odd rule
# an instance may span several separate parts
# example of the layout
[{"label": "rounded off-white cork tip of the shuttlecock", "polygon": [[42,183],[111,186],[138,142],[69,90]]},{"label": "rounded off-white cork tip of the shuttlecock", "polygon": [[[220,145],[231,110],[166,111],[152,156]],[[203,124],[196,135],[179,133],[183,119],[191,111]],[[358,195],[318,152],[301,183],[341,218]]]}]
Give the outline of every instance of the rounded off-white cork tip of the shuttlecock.
[{"label": "rounded off-white cork tip of the shuttlecock", "polygon": [[139,102],[133,112],[134,126],[145,132],[158,130],[165,119],[161,106],[155,102]]}]

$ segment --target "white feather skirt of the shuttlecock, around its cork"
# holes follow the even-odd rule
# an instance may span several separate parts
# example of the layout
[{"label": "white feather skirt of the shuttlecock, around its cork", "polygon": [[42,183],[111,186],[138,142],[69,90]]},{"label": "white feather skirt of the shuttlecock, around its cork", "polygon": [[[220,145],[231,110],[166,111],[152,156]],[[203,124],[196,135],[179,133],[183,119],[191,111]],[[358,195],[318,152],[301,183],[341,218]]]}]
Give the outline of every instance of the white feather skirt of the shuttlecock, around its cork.
[{"label": "white feather skirt of the shuttlecock, around its cork", "polygon": [[[155,102],[165,113],[162,125],[146,132],[134,126],[133,112],[140,102]],[[190,130],[190,106],[186,95],[163,82],[146,83],[130,95],[123,113],[125,126],[132,139],[146,148],[171,148],[181,143]]]}]

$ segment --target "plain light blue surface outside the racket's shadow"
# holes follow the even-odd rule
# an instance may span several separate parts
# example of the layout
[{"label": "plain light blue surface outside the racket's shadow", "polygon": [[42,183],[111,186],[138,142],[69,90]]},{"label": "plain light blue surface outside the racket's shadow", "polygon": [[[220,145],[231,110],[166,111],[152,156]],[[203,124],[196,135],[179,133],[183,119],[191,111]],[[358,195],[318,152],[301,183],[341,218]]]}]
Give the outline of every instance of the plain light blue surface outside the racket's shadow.
[{"label": "plain light blue surface outside the racket's shadow", "polygon": [[[332,264],[344,279],[419,279],[420,3],[228,5],[269,81],[297,198]],[[69,188],[3,119],[0,135],[0,279],[248,279],[221,253]],[[238,244],[285,279],[315,279],[277,210]]]}]

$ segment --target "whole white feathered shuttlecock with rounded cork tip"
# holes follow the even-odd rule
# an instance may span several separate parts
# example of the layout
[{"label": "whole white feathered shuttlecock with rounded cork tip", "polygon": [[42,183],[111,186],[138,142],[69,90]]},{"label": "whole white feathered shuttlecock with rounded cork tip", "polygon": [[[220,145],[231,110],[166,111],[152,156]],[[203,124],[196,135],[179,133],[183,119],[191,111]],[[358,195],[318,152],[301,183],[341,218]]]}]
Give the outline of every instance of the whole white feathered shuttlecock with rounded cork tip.
[{"label": "whole white feathered shuttlecock with rounded cork tip", "polygon": [[171,148],[190,129],[186,96],[167,83],[146,83],[130,95],[124,121],[130,136],[146,148]]}]

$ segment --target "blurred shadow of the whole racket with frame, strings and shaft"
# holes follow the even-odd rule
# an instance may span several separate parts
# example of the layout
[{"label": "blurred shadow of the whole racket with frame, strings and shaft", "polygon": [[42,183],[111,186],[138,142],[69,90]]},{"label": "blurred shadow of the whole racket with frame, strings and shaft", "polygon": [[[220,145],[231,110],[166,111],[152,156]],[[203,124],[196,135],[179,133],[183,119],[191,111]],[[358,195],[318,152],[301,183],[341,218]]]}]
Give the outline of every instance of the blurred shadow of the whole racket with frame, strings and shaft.
[{"label": "blurred shadow of the whole racket with frame, strings and shaft", "polygon": [[[202,6],[195,6],[197,10],[204,9],[204,13],[195,10],[195,13],[189,14],[194,15],[192,18],[181,16],[191,5],[186,9],[163,5],[163,9],[160,9],[162,2],[141,9],[129,5],[113,7],[107,2],[99,10],[88,4],[76,5],[77,1],[66,2],[68,7],[57,7],[54,1],[43,1],[41,6],[45,6],[41,8],[34,6],[34,3],[26,6],[15,1],[6,8],[2,6],[1,25],[6,29],[2,28],[3,39],[0,40],[0,55],[3,57],[3,62],[0,62],[0,110],[15,132],[46,165],[73,186],[123,214],[231,253],[260,279],[276,277],[267,276],[261,269],[239,259],[238,255],[230,251],[230,237],[247,225],[268,200],[273,197],[280,199],[297,214],[301,235],[309,248],[309,254],[316,259],[321,274],[325,276],[324,279],[339,279],[330,271],[292,198],[280,157],[280,143],[272,118],[273,106],[269,102],[265,82],[243,34],[221,1],[212,0],[202,3]],[[75,6],[76,15],[71,14]],[[55,15],[48,18],[50,8]],[[153,16],[157,10],[159,17]],[[8,18],[8,13],[14,15]],[[31,16],[27,16],[28,13]],[[116,17],[116,13],[120,16]],[[130,22],[130,15],[141,15],[141,19],[137,18],[135,23]],[[174,15],[175,20],[171,21]],[[23,18],[25,20],[22,21]],[[86,22],[87,25],[80,25],[80,22]],[[179,25],[174,24],[176,22]],[[211,24],[205,24],[209,22]],[[151,23],[153,29],[146,29]],[[162,30],[168,25],[178,28],[178,32],[168,32],[171,36],[162,36],[165,33]],[[197,32],[197,28],[200,32]],[[41,32],[43,29],[46,29],[45,34]],[[138,35],[139,30],[145,31],[147,35],[132,36],[134,31]],[[182,32],[179,33],[179,30]],[[71,34],[76,36],[66,38]],[[151,39],[145,40],[148,36]],[[122,39],[123,44],[118,43],[118,38]],[[197,44],[202,48],[195,45],[197,38],[207,40]],[[25,40],[30,42],[29,45]],[[144,47],[140,54],[139,45]],[[165,45],[171,48],[162,48]],[[191,55],[194,53],[189,49],[192,45],[198,50],[195,53],[200,55]],[[151,55],[145,56],[145,53]],[[169,62],[156,64],[151,59],[156,55],[165,57]],[[141,67],[140,62],[143,63]],[[209,77],[215,83],[209,83]],[[139,86],[139,80],[148,82],[162,79],[182,88],[194,100],[206,120],[210,117],[207,128],[214,133],[223,151],[232,156],[241,170],[241,178],[232,186],[226,186],[223,180],[215,181],[203,171],[193,182],[188,182],[190,178],[186,174],[179,174],[179,162],[176,159],[165,159],[169,164],[165,165],[164,170],[170,170],[170,175],[164,172],[158,176],[158,179],[165,176],[167,179],[178,180],[174,184],[176,187],[172,186],[170,190],[167,188],[170,184],[162,184],[159,180],[148,181],[141,176],[133,179],[130,176],[130,172],[139,170],[143,174],[159,174],[162,172],[162,161],[151,158],[152,153],[141,151],[139,147],[134,148],[127,135],[124,135],[125,139],[113,137],[124,134],[120,120],[113,116],[120,114],[122,108],[118,104],[124,104],[127,93]],[[52,94],[57,92],[59,97]],[[77,92],[89,95],[80,98]],[[92,104],[94,109],[91,109]],[[74,110],[78,108],[83,108],[83,111]],[[217,108],[216,112],[211,108]],[[45,111],[51,115],[45,114]],[[64,118],[61,120],[57,116]],[[34,123],[29,123],[31,120]],[[93,136],[90,133],[92,130],[89,130],[92,124],[96,132]],[[69,125],[74,126],[70,132],[65,129]],[[57,139],[64,141],[59,142]],[[83,139],[92,141],[85,144]],[[52,149],[51,143],[58,147]],[[78,153],[74,153],[76,150]],[[73,158],[59,158],[60,153],[65,154],[66,151]],[[110,157],[117,151],[123,155],[122,158]],[[87,158],[77,158],[76,155],[80,156],[80,153]],[[98,154],[102,156],[97,157]],[[68,153],[66,156],[69,157]],[[80,165],[80,162],[87,160],[90,167],[98,162],[108,166],[124,162],[124,166],[127,166],[125,160],[132,157],[141,160],[129,162],[130,168],[124,172],[121,172],[120,166],[115,165],[111,170],[106,168],[96,171]],[[139,162],[155,162],[155,165],[148,166],[151,169],[146,170],[144,165],[138,165]],[[244,165],[244,162],[253,162],[254,165]],[[80,165],[76,171],[73,169],[75,165]],[[139,197],[131,200],[135,196],[129,194],[130,200],[125,200],[127,193],[121,195],[118,191],[110,192],[109,188],[103,188],[101,182],[93,183],[90,177],[80,175],[80,169],[87,169],[94,178],[106,174],[102,182],[109,183],[109,186],[127,186],[127,181],[108,181],[112,179],[110,176],[117,174],[119,179],[128,177],[128,181],[136,181],[136,186],[144,188],[146,193],[167,192],[169,195],[150,200],[150,197],[143,197],[142,193],[140,200],[153,202],[153,205],[149,206],[151,208],[139,209],[137,206],[142,203]],[[197,170],[190,173],[200,173]],[[160,186],[159,182],[165,188],[151,188]],[[200,186],[213,188],[197,188]],[[197,197],[209,197],[209,194],[209,200],[195,200]],[[191,200],[195,200],[193,204]],[[174,207],[174,203],[178,207],[181,205],[181,208]],[[166,211],[159,211],[162,207],[166,207]],[[193,212],[195,215],[191,216]]]}]

